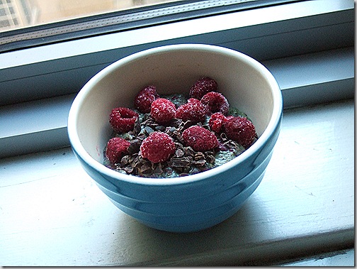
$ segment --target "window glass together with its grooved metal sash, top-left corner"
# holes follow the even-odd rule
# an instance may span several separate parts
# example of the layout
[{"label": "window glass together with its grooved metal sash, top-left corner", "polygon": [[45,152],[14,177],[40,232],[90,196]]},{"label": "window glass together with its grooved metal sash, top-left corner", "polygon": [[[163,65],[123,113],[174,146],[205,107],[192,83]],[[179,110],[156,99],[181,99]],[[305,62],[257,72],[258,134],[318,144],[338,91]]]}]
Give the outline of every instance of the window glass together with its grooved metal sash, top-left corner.
[{"label": "window glass together with its grooved metal sash, top-left corner", "polygon": [[0,53],[304,0],[0,0]]}]

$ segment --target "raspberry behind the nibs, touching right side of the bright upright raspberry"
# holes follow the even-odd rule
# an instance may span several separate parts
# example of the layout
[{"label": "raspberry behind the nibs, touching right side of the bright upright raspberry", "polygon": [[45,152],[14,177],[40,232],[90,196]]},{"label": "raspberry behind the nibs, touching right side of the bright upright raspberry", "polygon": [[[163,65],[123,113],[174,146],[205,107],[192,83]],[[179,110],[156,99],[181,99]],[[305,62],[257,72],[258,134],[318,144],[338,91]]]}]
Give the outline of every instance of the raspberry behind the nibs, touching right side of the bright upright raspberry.
[{"label": "raspberry behind the nibs, touching right side of the bright upright raspberry", "polygon": [[190,98],[187,100],[186,104],[181,104],[176,112],[176,118],[182,119],[183,121],[193,121],[198,123],[198,121],[205,120],[205,114],[207,114],[207,108],[203,106],[200,100],[195,98]]}]

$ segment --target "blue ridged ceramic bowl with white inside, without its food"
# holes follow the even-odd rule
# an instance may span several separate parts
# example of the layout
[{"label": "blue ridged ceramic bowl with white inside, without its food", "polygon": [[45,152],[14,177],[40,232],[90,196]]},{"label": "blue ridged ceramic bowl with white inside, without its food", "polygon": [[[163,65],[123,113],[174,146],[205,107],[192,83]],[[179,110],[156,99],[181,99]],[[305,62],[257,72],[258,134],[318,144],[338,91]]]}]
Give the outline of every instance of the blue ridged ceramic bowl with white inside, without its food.
[{"label": "blue ridged ceramic bowl with white inside, without its food", "polygon": [[[111,109],[132,107],[148,84],[156,85],[159,94],[187,94],[204,76],[215,79],[229,104],[253,121],[259,136],[253,146],[224,165],[185,177],[136,177],[103,165]],[[90,79],[74,99],[68,133],[84,170],[119,209],[155,229],[191,232],[229,218],[256,190],[278,138],[282,111],[276,79],[251,57],[212,45],[168,45],[118,60]]]}]

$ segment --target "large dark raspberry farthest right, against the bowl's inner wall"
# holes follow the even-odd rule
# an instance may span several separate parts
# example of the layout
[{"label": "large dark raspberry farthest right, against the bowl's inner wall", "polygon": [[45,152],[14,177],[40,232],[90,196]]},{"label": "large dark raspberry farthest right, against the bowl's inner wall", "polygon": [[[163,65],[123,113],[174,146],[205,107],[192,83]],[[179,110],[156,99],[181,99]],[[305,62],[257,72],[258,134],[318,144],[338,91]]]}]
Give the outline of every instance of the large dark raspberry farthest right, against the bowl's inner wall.
[{"label": "large dark raspberry farthest right, against the bowl's inner wall", "polygon": [[251,146],[256,137],[253,123],[241,116],[228,117],[223,124],[223,128],[225,128],[227,138],[237,141],[244,148]]}]

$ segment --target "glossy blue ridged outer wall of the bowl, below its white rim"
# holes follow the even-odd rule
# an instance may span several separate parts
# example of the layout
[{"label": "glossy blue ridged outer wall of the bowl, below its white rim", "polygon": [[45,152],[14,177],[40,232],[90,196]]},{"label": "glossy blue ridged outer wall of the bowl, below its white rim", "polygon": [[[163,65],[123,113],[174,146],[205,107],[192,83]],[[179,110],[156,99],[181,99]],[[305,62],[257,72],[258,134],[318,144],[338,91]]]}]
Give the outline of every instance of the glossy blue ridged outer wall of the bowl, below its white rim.
[{"label": "glossy blue ridged outer wall of the bowl, below its white rim", "polygon": [[279,129],[277,126],[273,136],[244,165],[199,182],[169,186],[120,182],[101,174],[79,155],[77,158],[113,204],[142,224],[163,231],[200,231],[228,219],[256,190],[271,159]]}]

